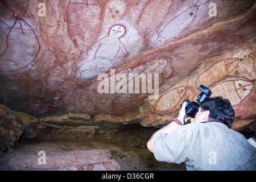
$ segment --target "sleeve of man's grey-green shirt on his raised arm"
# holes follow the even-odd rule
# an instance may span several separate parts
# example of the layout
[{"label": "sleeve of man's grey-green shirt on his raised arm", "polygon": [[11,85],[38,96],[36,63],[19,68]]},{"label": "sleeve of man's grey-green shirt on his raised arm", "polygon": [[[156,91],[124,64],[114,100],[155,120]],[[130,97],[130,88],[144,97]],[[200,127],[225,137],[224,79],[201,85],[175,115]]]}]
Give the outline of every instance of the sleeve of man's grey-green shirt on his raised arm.
[{"label": "sleeve of man's grey-green shirt on his raised arm", "polygon": [[156,135],[153,145],[156,160],[177,164],[188,160],[192,136],[189,136],[185,130],[184,126],[179,126],[171,134]]}]

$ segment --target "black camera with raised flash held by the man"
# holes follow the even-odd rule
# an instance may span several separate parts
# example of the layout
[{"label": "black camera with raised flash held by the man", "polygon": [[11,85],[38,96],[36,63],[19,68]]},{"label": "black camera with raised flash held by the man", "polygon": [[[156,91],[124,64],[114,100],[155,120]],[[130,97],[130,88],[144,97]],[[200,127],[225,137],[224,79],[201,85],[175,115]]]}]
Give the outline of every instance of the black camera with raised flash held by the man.
[{"label": "black camera with raised flash held by the man", "polygon": [[197,97],[197,102],[191,102],[189,100],[185,100],[181,103],[180,107],[184,104],[184,102],[187,102],[187,105],[185,107],[185,112],[189,117],[195,118],[196,113],[198,112],[198,109],[203,101],[208,100],[210,95],[212,95],[212,91],[205,87],[204,85],[200,85],[198,88],[201,93]]}]

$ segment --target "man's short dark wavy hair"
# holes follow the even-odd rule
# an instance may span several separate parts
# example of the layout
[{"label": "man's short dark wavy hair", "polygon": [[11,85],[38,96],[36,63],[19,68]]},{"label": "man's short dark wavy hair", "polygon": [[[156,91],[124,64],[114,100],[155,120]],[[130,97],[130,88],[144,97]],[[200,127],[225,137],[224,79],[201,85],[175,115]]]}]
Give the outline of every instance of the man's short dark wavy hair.
[{"label": "man's short dark wavy hair", "polygon": [[218,121],[231,128],[235,113],[229,100],[211,97],[201,104],[201,111],[209,110],[209,121]]}]

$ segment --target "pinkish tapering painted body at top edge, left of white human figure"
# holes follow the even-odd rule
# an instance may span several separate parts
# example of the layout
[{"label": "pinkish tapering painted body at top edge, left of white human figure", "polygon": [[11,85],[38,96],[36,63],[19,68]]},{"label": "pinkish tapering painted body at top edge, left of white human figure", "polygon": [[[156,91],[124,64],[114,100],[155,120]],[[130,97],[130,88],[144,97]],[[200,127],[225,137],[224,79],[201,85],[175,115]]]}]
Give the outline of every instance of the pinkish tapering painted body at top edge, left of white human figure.
[{"label": "pinkish tapering painted body at top edge, left of white human figure", "polygon": [[105,9],[101,0],[70,0],[68,3],[68,34],[79,48],[80,59],[101,34]]}]

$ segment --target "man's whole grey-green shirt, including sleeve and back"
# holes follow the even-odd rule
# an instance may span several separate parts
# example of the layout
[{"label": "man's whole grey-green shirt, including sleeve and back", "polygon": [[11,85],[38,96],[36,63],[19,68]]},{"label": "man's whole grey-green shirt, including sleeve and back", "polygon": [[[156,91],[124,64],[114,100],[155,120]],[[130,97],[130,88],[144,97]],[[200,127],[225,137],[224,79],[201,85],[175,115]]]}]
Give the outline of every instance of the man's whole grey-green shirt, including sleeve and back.
[{"label": "man's whole grey-green shirt, including sleeve and back", "polygon": [[156,160],[185,162],[188,170],[256,170],[256,148],[219,122],[179,126],[154,140]]}]

